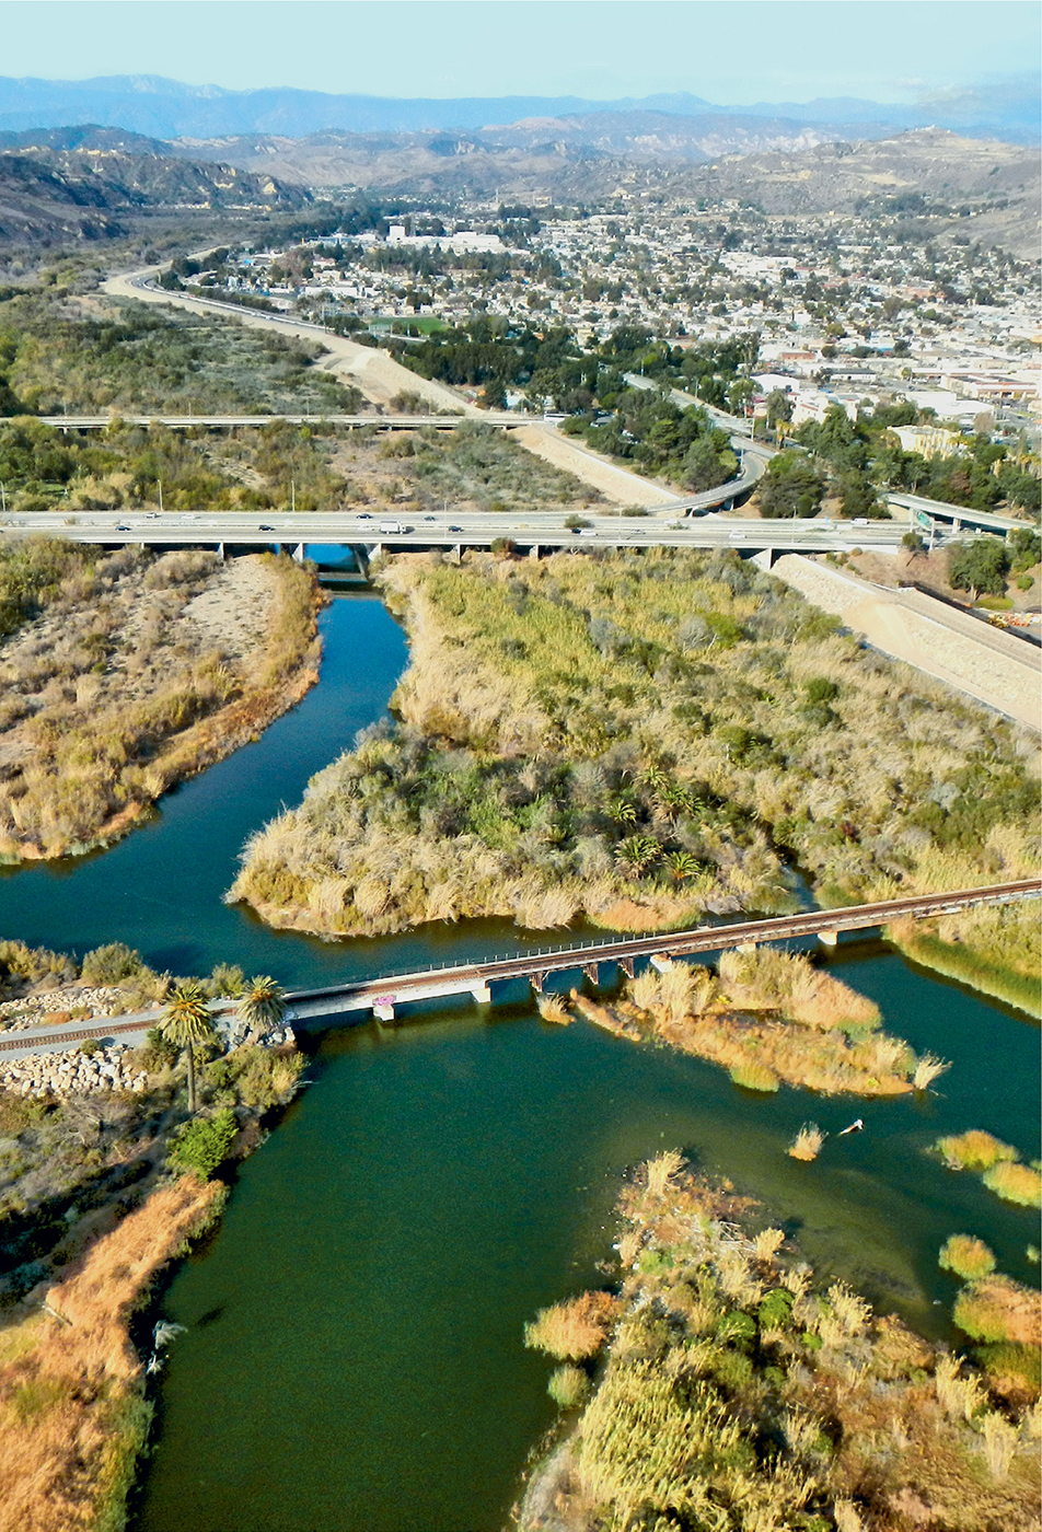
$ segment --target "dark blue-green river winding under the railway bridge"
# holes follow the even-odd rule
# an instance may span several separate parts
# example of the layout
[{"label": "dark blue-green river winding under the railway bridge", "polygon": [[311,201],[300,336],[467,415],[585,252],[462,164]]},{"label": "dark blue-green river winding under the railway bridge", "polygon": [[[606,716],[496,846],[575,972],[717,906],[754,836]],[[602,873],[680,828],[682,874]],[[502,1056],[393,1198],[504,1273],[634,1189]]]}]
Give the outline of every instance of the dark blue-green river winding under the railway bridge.
[{"label": "dark blue-green river winding under the railway bridge", "polygon": [[[221,902],[247,835],[380,717],[406,648],[369,594],[322,614],[322,679],[256,743],[162,800],[112,850],[0,878],[0,931],[84,951],[121,939],[175,973],[216,961],[283,984],[516,950],[504,922],[345,944],[274,933]],[[403,1025],[333,1028],[311,1082],[242,1164],[219,1229],[175,1275],[185,1333],[158,1390],[136,1532],[496,1532],[553,1422],[533,1311],[604,1281],[621,1178],[662,1147],[760,1196],[806,1256],[932,1334],[950,1233],[1031,1281],[1034,1215],[924,1149],[988,1128],[1037,1154],[1039,1033],[878,941],[827,959],[889,1030],[953,1062],[929,1097],[760,1097],[723,1071],[576,1023],[521,987]],[[835,1132],[798,1164],[814,1117]]]}]

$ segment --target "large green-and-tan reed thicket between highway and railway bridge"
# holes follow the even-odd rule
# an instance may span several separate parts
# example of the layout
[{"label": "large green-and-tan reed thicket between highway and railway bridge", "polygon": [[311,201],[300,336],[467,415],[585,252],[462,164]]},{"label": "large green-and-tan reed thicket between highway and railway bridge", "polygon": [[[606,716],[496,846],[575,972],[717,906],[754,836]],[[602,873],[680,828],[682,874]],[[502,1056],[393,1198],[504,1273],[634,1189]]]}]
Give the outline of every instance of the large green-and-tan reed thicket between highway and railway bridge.
[{"label": "large green-and-tan reed thicket between highway and railway bridge", "polygon": [[[786,863],[826,907],[1037,867],[1027,735],[736,553],[412,555],[377,578],[411,642],[397,720],[248,843],[230,898],[273,925],[656,930],[789,908]],[[916,958],[956,951],[1037,1008],[1034,908],[935,930]]]}]

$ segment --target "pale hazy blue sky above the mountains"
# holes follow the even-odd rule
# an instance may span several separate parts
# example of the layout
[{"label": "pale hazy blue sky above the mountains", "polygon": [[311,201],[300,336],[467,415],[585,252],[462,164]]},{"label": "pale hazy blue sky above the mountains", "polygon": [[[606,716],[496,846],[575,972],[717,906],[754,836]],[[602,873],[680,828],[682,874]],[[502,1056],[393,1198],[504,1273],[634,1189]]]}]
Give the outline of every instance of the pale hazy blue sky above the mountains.
[{"label": "pale hazy blue sky above the mountains", "polygon": [[1036,0],[0,0],[0,74],[394,97],[919,93],[1036,69]]}]

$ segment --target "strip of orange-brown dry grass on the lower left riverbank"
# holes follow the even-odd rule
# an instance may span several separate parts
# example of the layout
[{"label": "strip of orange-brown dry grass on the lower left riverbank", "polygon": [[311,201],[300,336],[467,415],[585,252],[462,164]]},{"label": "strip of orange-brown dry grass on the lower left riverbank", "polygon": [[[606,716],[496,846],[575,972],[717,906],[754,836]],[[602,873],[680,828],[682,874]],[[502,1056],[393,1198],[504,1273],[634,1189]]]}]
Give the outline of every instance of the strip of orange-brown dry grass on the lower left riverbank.
[{"label": "strip of orange-brown dry grass on the lower left riverbank", "polygon": [[124,1439],[132,1460],[141,1429],[127,1316],[221,1195],[188,1177],[153,1192],[46,1295],[67,1322],[34,1314],[0,1331],[0,1532],[93,1527],[126,1489]]}]

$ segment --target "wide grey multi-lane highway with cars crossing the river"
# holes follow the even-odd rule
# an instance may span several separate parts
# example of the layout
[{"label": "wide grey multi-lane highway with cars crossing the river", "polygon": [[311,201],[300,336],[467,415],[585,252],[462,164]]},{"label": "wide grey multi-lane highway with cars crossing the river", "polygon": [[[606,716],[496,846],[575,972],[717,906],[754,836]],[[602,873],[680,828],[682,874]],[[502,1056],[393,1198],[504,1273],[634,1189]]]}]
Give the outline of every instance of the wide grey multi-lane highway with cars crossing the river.
[{"label": "wide grey multi-lane highway with cars crossing the river", "polygon": [[[670,547],[670,548],[768,548],[772,552],[827,553],[854,547],[896,547],[906,525],[893,521],[754,521],[740,516],[685,519],[676,507],[673,521],[654,516],[585,516],[588,527],[572,530],[556,515],[478,515],[415,516],[343,512],[267,512],[264,515],[225,512],[184,515],[179,512],[116,513],[83,512],[78,516],[9,516],[0,524],[0,538],[48,532],[72,542],[104,545],[192,545],[192,547],[294,547],[328,542],[343,545],[382,545],[388,550],[429,547],[489,547],[510,538],[526,548]],[[397,530],[382,530],[395,527]]]}]

